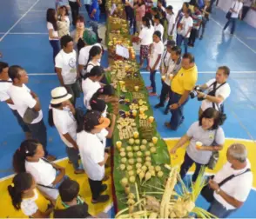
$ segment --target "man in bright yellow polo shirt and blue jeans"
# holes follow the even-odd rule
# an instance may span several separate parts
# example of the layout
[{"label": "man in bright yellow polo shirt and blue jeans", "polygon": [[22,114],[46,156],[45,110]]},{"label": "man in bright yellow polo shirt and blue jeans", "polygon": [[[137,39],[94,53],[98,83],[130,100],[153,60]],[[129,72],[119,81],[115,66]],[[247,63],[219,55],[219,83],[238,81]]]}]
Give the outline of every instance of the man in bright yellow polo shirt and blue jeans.
[{"label": "man in bright yellow polo shirt and blue jeans", "polygon": [[167,128],[176,130],[183,122],[183,108],[197,80],[198,68],[195,64],[194,56],[191,53],[185,53],[182,57],[181,69],[172,79],[168,103],[172,116],[170,123],[165,123]]}]

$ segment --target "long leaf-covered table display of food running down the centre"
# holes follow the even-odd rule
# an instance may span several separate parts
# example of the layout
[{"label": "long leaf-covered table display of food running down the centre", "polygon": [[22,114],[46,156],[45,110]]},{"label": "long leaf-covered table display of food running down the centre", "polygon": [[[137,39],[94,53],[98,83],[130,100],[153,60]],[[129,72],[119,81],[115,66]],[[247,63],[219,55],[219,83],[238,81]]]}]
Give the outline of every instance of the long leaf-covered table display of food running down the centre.
[{"label": "long leaf-covered table display of food running down the centre", "polygon": [[[119,0],[109,1],[107,8],[111,9],[113,3],[124,10]],[[195,206],[205,185],[203,174],[192,184],[192,189],[187,189],[178,169],[170,165],[169,152],[158,134],[135,50],[131,47],[131,36],[127,34],[128,23],[118,13],[108,17],[106,30],[111,65],[106,77],[119,98],[112,163],[116,217],[213,218]],[[115,55],[117,44],[129,50],[129,59]],[[174,189],[176,186],[179,189]]]}]

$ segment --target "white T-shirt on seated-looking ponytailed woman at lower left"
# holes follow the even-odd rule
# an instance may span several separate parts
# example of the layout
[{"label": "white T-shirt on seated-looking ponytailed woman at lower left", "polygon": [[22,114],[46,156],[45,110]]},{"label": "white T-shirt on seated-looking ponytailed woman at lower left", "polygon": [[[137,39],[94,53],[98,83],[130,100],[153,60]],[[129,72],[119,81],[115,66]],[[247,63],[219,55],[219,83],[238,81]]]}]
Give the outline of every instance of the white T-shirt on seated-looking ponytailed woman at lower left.
[{"label": "white T-shirt on seated-looking ponytailed woman at lower left", "polygon": [[25,169],[38,184],[50,186],[56,178],[56,169],[52,167],[51,163],[47,163],[43,159],[39,159],[38,162],[25,161]]}]

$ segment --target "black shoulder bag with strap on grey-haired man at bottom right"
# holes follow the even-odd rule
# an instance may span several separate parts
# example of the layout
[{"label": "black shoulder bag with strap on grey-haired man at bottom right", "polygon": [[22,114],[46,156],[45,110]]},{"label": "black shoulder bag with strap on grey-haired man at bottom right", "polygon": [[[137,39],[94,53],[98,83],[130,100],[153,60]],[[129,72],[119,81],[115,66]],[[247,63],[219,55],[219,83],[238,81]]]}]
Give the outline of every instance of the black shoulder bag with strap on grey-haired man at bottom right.
[{"label": "black shoulder bag with strap on grey-haired man at bottom right", "polygon": [[[221,186],[223,186],[226,182],[232,180],[234,177],[243,175],[243,174],[245,174],[246,172],[250,172],[250,171],[251,171],[251,169],[246,169],[246,171],[243,172],[243,173],[240,173],[240,174],[238,174],[238,175],[233,175],[233,174],[232,174],[231,176],[226,177],[224,180],[222,180],[220,183],[218,183],[219,188],[220,188]],[[209,176],[207,181],[209,182],[209,180],[210,180],[210,179],[213,179],[213,177],[214,177],[214,176]],[[201,196],[203,196],[203,197],[205,198],[206,202],[213,202],[213,200],[214,200],[213,194],[214,194],[214,190],[210,187],[209,183],[207,183],[207,184],[203,187],[203,189],[201,190]]]}]

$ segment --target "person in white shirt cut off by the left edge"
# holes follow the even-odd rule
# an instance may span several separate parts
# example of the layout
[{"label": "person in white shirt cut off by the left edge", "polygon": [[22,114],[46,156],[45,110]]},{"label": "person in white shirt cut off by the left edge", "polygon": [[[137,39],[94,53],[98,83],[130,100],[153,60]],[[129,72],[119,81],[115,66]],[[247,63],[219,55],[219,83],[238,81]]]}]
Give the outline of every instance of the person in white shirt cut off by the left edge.
[{"label": "person in white shirt cut off by the left edge", "polygon": [[8,70],[8,63],[0,62],[0,101],[7,103],[7,105],[10,107],[13,116],[16,117],[17,123],[23,129],[26,139],[29,139],[31,137],[30,129],[26,125],[26,123],[24,123],[23,118],[19,116],[17,112],[17,107],[14,105],[8,92],[12,84],[12,81],[8,76]]}]

